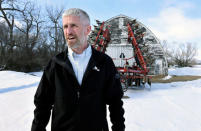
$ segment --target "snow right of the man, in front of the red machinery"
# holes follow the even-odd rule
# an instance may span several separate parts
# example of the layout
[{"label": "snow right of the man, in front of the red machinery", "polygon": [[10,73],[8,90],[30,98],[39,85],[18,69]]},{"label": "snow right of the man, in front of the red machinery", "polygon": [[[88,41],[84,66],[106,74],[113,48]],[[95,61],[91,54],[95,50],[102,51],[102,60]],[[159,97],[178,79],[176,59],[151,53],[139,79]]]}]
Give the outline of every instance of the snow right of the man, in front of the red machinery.
[{"label": "snow right of the man, in front of the red machinery", "polygon": [[150,92],[125,95],[130,97],[124,100],[128,131],[201,130],[201,80],[153,84]]}]

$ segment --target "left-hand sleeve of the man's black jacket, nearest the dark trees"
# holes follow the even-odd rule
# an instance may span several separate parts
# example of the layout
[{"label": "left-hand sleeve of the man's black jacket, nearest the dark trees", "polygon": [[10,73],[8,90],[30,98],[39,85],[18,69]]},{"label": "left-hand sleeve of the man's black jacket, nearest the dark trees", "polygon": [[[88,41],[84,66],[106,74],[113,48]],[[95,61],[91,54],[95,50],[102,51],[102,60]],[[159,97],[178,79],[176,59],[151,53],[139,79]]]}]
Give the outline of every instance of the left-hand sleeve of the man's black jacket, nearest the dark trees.
[{"label": "left-hand sleeve of the man's black jacket, nearest the dark trees", "polygon": [[46,131],[51,109],[53,106],[53,79],[51,62],[45,68],[36,94],[34,96],[34,104],[36,106],[34,110],[34,120],[32,122],[31,131]]}]

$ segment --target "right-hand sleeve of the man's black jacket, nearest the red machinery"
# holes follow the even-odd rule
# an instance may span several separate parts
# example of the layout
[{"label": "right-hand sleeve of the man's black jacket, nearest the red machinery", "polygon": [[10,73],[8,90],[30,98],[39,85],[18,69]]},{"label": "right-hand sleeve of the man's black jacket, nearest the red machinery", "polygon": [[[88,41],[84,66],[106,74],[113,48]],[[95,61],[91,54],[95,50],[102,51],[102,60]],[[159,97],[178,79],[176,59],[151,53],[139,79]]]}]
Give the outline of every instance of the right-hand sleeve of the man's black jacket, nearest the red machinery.
[{"label": "right-hand sleeve of the man's black jacket, nearest the red machinery", "polygon": [[106,102],[109,105],[110,120],[112,122],[112,131],[124,131],[124,109],[123,101],[123,90],[120,83],[120,76],[116,70],[116,67],[109,59],[107,61],[107,91],[106,91]]}]

